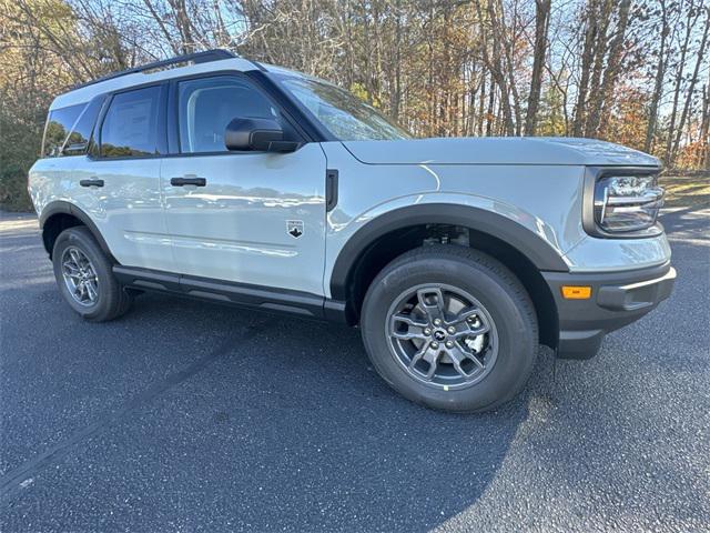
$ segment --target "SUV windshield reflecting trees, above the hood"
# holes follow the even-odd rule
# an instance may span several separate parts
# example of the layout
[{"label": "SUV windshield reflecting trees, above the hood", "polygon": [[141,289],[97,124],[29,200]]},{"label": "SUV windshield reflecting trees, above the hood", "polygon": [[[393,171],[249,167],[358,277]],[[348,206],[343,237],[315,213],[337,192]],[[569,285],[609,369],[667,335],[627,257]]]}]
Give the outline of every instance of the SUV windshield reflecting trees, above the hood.
[{"label": "SUV windshield reflecting trees, above the hood", "polygon": [[278,74],[278,81],[341,141],[410,139],[375,108],[354,94],[313,78]]}]

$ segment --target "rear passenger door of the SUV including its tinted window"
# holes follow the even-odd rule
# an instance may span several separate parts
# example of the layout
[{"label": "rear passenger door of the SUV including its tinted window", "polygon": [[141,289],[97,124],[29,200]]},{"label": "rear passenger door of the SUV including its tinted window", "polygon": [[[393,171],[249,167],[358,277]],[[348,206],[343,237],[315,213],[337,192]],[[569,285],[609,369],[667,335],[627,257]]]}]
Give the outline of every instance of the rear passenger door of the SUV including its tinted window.
[{"label": "rear passenger door of the SUV including its tinted window", "polygon": [[90,154],[75,169],[82,207],[126,266],[171,270],[160,189],[166,84],[110,94]]}]

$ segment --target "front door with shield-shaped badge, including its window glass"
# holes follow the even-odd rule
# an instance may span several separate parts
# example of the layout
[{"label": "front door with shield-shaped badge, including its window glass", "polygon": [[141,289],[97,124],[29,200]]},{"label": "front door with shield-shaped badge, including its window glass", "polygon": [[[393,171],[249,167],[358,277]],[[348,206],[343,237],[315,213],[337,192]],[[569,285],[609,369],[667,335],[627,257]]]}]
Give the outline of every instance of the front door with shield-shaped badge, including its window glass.
[{"label": "front door with shield-shaped badge, including its window glass", "polygon": [[235,118],[271,118],[278,108],[246,78],[175,81],[178,153],[163,159],[161,187],[174,271],[323,294],[325,172],[321,145],[293,153],[229,152]]}]

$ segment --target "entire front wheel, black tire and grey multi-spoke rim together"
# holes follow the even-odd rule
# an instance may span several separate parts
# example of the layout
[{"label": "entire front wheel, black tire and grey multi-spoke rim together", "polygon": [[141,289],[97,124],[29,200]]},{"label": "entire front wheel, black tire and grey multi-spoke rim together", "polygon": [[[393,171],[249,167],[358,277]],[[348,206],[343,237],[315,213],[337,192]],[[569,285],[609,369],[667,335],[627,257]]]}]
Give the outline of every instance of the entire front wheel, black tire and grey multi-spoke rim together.
[{"label": "entire front wheel, black tire and grey multi-spoke rim together", "polygon": [[476,250],[430,245],[371,284],[361,326],[369,359],[407,399],[486,411],[525,385],[538,351],[535,308],[518,279]]}]

